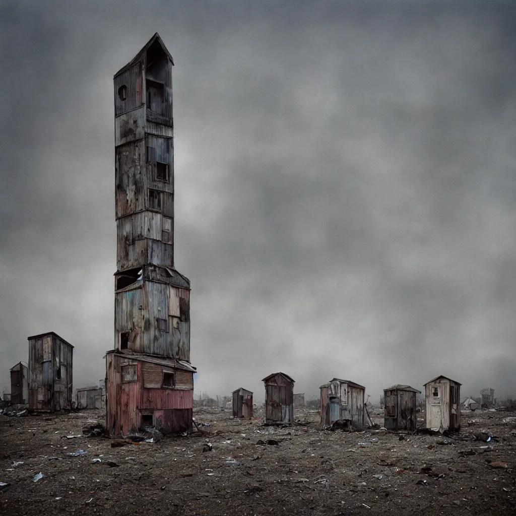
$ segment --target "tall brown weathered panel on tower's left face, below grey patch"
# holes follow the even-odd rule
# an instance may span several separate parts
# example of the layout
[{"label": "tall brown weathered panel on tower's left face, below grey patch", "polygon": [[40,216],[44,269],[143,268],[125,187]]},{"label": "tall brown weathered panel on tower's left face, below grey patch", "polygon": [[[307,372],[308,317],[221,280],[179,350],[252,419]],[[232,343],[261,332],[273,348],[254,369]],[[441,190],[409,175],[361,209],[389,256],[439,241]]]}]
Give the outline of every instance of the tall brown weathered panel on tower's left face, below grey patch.
[{"label": "tall brown weathered panel on tower's left face, below grey patch", "polygon": [[143,140],[126,143],[115,150],[115,217],[144,209],[145,181]]}]

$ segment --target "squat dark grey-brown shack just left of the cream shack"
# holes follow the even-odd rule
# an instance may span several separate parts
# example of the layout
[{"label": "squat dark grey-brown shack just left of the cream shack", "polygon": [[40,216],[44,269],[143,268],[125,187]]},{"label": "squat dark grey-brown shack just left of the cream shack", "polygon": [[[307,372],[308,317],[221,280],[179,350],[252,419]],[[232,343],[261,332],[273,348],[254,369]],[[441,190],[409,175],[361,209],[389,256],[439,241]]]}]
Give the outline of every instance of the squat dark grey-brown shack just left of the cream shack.
[{"label": "squat dark grey-brown shack just left of the cream shack", "polygon": [[383,390],[386,429],[410,432],[416,429],[417,394],[421,394],[421,391],[399,383]]}]

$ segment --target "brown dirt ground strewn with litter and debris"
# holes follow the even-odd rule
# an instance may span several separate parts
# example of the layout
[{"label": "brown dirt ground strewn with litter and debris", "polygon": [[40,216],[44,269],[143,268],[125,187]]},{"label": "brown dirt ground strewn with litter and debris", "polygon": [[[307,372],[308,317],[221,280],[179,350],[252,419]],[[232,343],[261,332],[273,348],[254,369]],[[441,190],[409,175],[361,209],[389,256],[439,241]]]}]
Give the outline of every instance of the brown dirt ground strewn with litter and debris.
[{"label": "brown dirt ground strewn with litter and debris", "polygon": [[[503,421],[516,413],[462,414],[461,432],[490,431],[498,439],[489,443],[323,431],[310,410],[296,411],[302,424],[291,428],[263,426],[260,411],[252,421],[220,409],[194,416],[210,426],[111,447],[82,437],[84,426],[104,422],[99,411],[0,415],[0,482],[9,483],[0,487],[0,513],[516,514],[516,419]],[[382,423],[380,411],[373,420]],[[278,444],[256,444],[271,439]],[[77,450],[86,454],[68,455]]]}]

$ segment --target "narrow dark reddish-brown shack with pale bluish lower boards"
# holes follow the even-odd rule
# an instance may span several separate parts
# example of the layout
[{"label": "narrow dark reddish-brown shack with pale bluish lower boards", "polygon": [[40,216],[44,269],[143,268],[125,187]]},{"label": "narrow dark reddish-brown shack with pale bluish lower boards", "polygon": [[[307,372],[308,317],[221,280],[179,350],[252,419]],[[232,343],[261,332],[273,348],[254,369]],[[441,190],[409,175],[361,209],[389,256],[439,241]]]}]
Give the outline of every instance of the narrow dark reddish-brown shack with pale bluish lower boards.
[{"label": "narrow dark reddish-brown shack with pale bluish lower boards", "polygon": [[265,424],[294,422],[294,380],[285,373],[272,373],[265,384]]}]

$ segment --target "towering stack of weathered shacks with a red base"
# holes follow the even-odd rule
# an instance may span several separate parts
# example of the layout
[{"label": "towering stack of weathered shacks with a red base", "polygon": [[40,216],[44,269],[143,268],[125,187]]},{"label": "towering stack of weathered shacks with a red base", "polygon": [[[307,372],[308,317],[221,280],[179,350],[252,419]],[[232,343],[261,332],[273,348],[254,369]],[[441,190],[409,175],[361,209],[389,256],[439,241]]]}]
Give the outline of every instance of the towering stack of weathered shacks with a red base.
[{"label": "towering stack of weathered shacks with a red base", "polygon": [[190,281],[174,268],[172,56],[156,33],[115,75],[115,349],[107,428],[191,431]]}]

